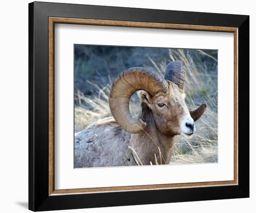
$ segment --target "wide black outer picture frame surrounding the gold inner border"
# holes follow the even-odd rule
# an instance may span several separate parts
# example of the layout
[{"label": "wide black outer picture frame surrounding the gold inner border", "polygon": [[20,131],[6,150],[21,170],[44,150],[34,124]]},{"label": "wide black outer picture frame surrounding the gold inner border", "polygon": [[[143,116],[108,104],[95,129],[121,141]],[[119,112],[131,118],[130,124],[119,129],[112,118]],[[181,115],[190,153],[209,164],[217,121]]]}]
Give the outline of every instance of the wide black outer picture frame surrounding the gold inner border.
[{"label": "wide black outer picture frame surrounding the gold inner border", "polygon": [[[32,211],[249,197],[249,16],[33,2],[29,4],[29,209]],[[238,185],[49,196],[48,17],[238,27]]]}]

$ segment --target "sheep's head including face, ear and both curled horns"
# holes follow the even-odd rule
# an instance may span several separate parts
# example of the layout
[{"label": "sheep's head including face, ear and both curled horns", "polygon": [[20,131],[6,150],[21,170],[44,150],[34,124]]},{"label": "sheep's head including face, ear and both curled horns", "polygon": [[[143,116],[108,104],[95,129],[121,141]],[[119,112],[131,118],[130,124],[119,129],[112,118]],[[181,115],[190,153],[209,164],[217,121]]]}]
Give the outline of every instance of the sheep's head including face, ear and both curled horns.
[{"label": "sheep's head including face, ear and both curled horns", "polygon": [[152,111],[158,130],[164,135],[182,134],[192,137],[194,122],[205,111],[202,104],[189,111],[185,104],[185,70],[181,61],[167,65],[165,78],[149,68],[133,67],[122,72],[113,83],[109,97],[110,110],[119,125],[130,133],[139,133],[146,123],[135,119],[129,112],[131,95],[138,96]]}]

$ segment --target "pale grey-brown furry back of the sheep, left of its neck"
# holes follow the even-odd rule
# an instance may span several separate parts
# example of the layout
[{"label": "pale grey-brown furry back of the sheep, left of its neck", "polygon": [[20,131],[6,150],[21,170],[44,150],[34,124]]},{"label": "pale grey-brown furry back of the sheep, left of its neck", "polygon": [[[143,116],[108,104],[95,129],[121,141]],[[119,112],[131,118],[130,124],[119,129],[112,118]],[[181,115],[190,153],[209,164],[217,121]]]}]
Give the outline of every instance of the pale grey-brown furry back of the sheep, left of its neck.
[{"label": "pale grey-brown furry back of the sheep, left of its neck", "polygon": [[128,148],[131,134],[113,117],[98,120],[74,137],[74,167],[136,165]]}]

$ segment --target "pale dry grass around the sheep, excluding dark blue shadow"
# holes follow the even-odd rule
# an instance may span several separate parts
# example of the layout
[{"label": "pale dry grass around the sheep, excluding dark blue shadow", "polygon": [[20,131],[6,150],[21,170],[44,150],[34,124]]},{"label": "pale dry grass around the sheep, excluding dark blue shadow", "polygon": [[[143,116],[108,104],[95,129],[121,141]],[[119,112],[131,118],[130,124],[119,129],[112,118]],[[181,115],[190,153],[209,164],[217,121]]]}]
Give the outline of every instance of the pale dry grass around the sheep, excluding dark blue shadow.
[{"label": "pale dry grass around the sheep, excluding dark blue shadow", "polygon": [[[147,55],[148,60],[144,61],[146,63],[143,62],[143,66],[154,67],[158,73],[163,75],[169,61],[182,60],[187,70],[185,93],[189,109],[193,110],[201,103],[208,105],[202,118],[196,122],[197,130],[193,138],[186,140],[182,136],[178,137],[170,163],[217,162],[217,59],[202,50],[167,50],[168,57],[165,57],[164,60],[154,60],[152,55]],[[135,60],[141,54],[140,51],[136,51],[132,53],[132,57]],[[79,63],[77,63],[77,66],[81,66]],[[121,61],[121,63],[123,62]],[[124,65],[123,67],[124,69],[126,68]],[[87,85],[93,91],[88,95],[84,95],[81,92],[82,89],[76,89],[74,109],[75,132],[81,131],[96,120],[111,116],[108,106],[108,95],[114,79],[115,77],[108,73],[101,83],[92,83],[86,80]],[[134,94],[130,103],[132,115],[137,116],[141,112],[140,104],[140,100]],[[159,153],[155,154],[161,155],[161,151],[159,150]],[[162,160],[162,158],[160,159]],[[153,163],[162,164],[162,162]],[[138,165],[140,165],[140,162],[138,162]]]}]

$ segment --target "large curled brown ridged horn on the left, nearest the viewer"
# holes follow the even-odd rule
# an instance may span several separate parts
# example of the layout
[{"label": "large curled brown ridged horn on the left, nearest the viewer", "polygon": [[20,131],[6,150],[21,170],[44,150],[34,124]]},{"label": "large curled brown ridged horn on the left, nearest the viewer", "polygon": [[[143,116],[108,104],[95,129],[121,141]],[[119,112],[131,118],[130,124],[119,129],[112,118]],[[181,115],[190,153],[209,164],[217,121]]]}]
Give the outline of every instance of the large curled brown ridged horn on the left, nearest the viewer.
[{"label": "large curled brown ridged horn on the left, nearest the viewer", "polygon": [[145,90],[151,96],[168,91],[168,83],[154,70],[144,67],[132,67],[117,76],[109,96],[109,107],[121,128],[129,133],[139,133],[146,123],[132,117],[129,110],[130,97],[137,90]]}]

